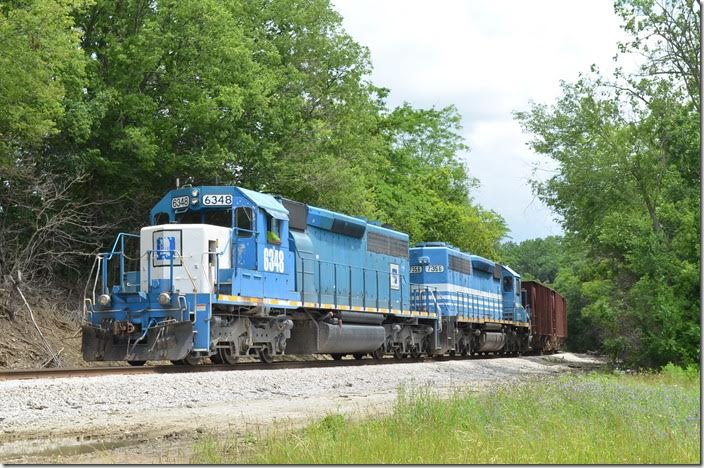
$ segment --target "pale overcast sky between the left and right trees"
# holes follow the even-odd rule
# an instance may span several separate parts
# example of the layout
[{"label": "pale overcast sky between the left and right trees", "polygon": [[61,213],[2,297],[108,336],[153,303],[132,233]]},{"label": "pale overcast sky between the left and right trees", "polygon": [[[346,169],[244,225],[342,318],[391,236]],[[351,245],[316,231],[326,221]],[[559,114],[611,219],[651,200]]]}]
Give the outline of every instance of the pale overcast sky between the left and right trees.
[{"label": "pale overcast sky between the left and right trees", "polygon": [[370,50],[371,81],[391,90],[389,105],[454,104],[462,114],[464,155],[481,187],[472,195],[501,214],[514,241],[562,230],[531,193],[534,164],[512,112],[552,103],[560,80],[591,64],[613,68],[624,38],[611,0],[333,0],[344,27]]}]

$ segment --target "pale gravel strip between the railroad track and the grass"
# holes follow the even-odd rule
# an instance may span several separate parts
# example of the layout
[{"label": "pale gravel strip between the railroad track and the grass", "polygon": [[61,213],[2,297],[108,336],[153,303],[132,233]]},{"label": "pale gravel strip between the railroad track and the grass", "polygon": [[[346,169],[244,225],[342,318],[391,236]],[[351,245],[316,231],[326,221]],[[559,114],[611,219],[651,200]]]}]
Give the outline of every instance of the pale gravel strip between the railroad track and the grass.
[{"label": "pale gravel strip between the railroad track and the grass", "polygon": [[599,365],[592,356],[0,382],[0,462],[188,462],[201,434],[388,411],[400,386],[444,393]]}]

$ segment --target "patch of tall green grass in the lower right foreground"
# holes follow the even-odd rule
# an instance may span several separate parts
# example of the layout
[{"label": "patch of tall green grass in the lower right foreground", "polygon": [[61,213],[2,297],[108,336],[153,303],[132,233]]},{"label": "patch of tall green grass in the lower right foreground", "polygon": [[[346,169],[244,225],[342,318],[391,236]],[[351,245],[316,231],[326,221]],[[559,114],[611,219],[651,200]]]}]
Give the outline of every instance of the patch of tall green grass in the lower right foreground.
[{"label": "patch of tall green grass in the lower right foreground", "polygon": [[303,430],[200,441],[192,463],[700,463],[699,371],[563,376],[441,399],[400,390],[394,411],[330,414]]}]

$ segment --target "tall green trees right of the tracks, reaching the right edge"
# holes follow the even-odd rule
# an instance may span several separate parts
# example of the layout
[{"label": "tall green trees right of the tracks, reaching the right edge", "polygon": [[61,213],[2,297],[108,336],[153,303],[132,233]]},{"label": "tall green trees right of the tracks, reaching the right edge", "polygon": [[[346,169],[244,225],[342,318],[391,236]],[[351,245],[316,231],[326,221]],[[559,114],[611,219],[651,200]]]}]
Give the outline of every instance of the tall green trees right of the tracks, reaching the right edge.
[{"label": "tall green trees right of the tracks, reaching the right edge", "polygon": [[555,282],[568,286],[570,314],[630,364],[699,360],[695,5],[618,1],[634,36],[621,51],[643,54],[642,70],[582,76],[563,83],[554,105],[516,114],[532,148],[559,163],[533,186],[561,215],[576,258],[587,259],[568,258]]}]

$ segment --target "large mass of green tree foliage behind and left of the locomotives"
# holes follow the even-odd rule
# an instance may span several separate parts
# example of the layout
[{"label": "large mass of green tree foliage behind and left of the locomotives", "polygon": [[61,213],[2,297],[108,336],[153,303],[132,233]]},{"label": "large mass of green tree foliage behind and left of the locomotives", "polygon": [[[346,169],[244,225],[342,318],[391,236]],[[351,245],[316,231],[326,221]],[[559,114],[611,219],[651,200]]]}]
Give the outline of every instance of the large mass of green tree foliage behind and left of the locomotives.
[{"label": "large mass of green tree foliage behind and left of the locomotives", "polygon": [[191,177],[483,255],[506,232],[469,196],[457,111],[388,109],[327,0],[11,1],[0,37],[0,179],[88,174],[72,198],[122,197],[102,225]]}]

